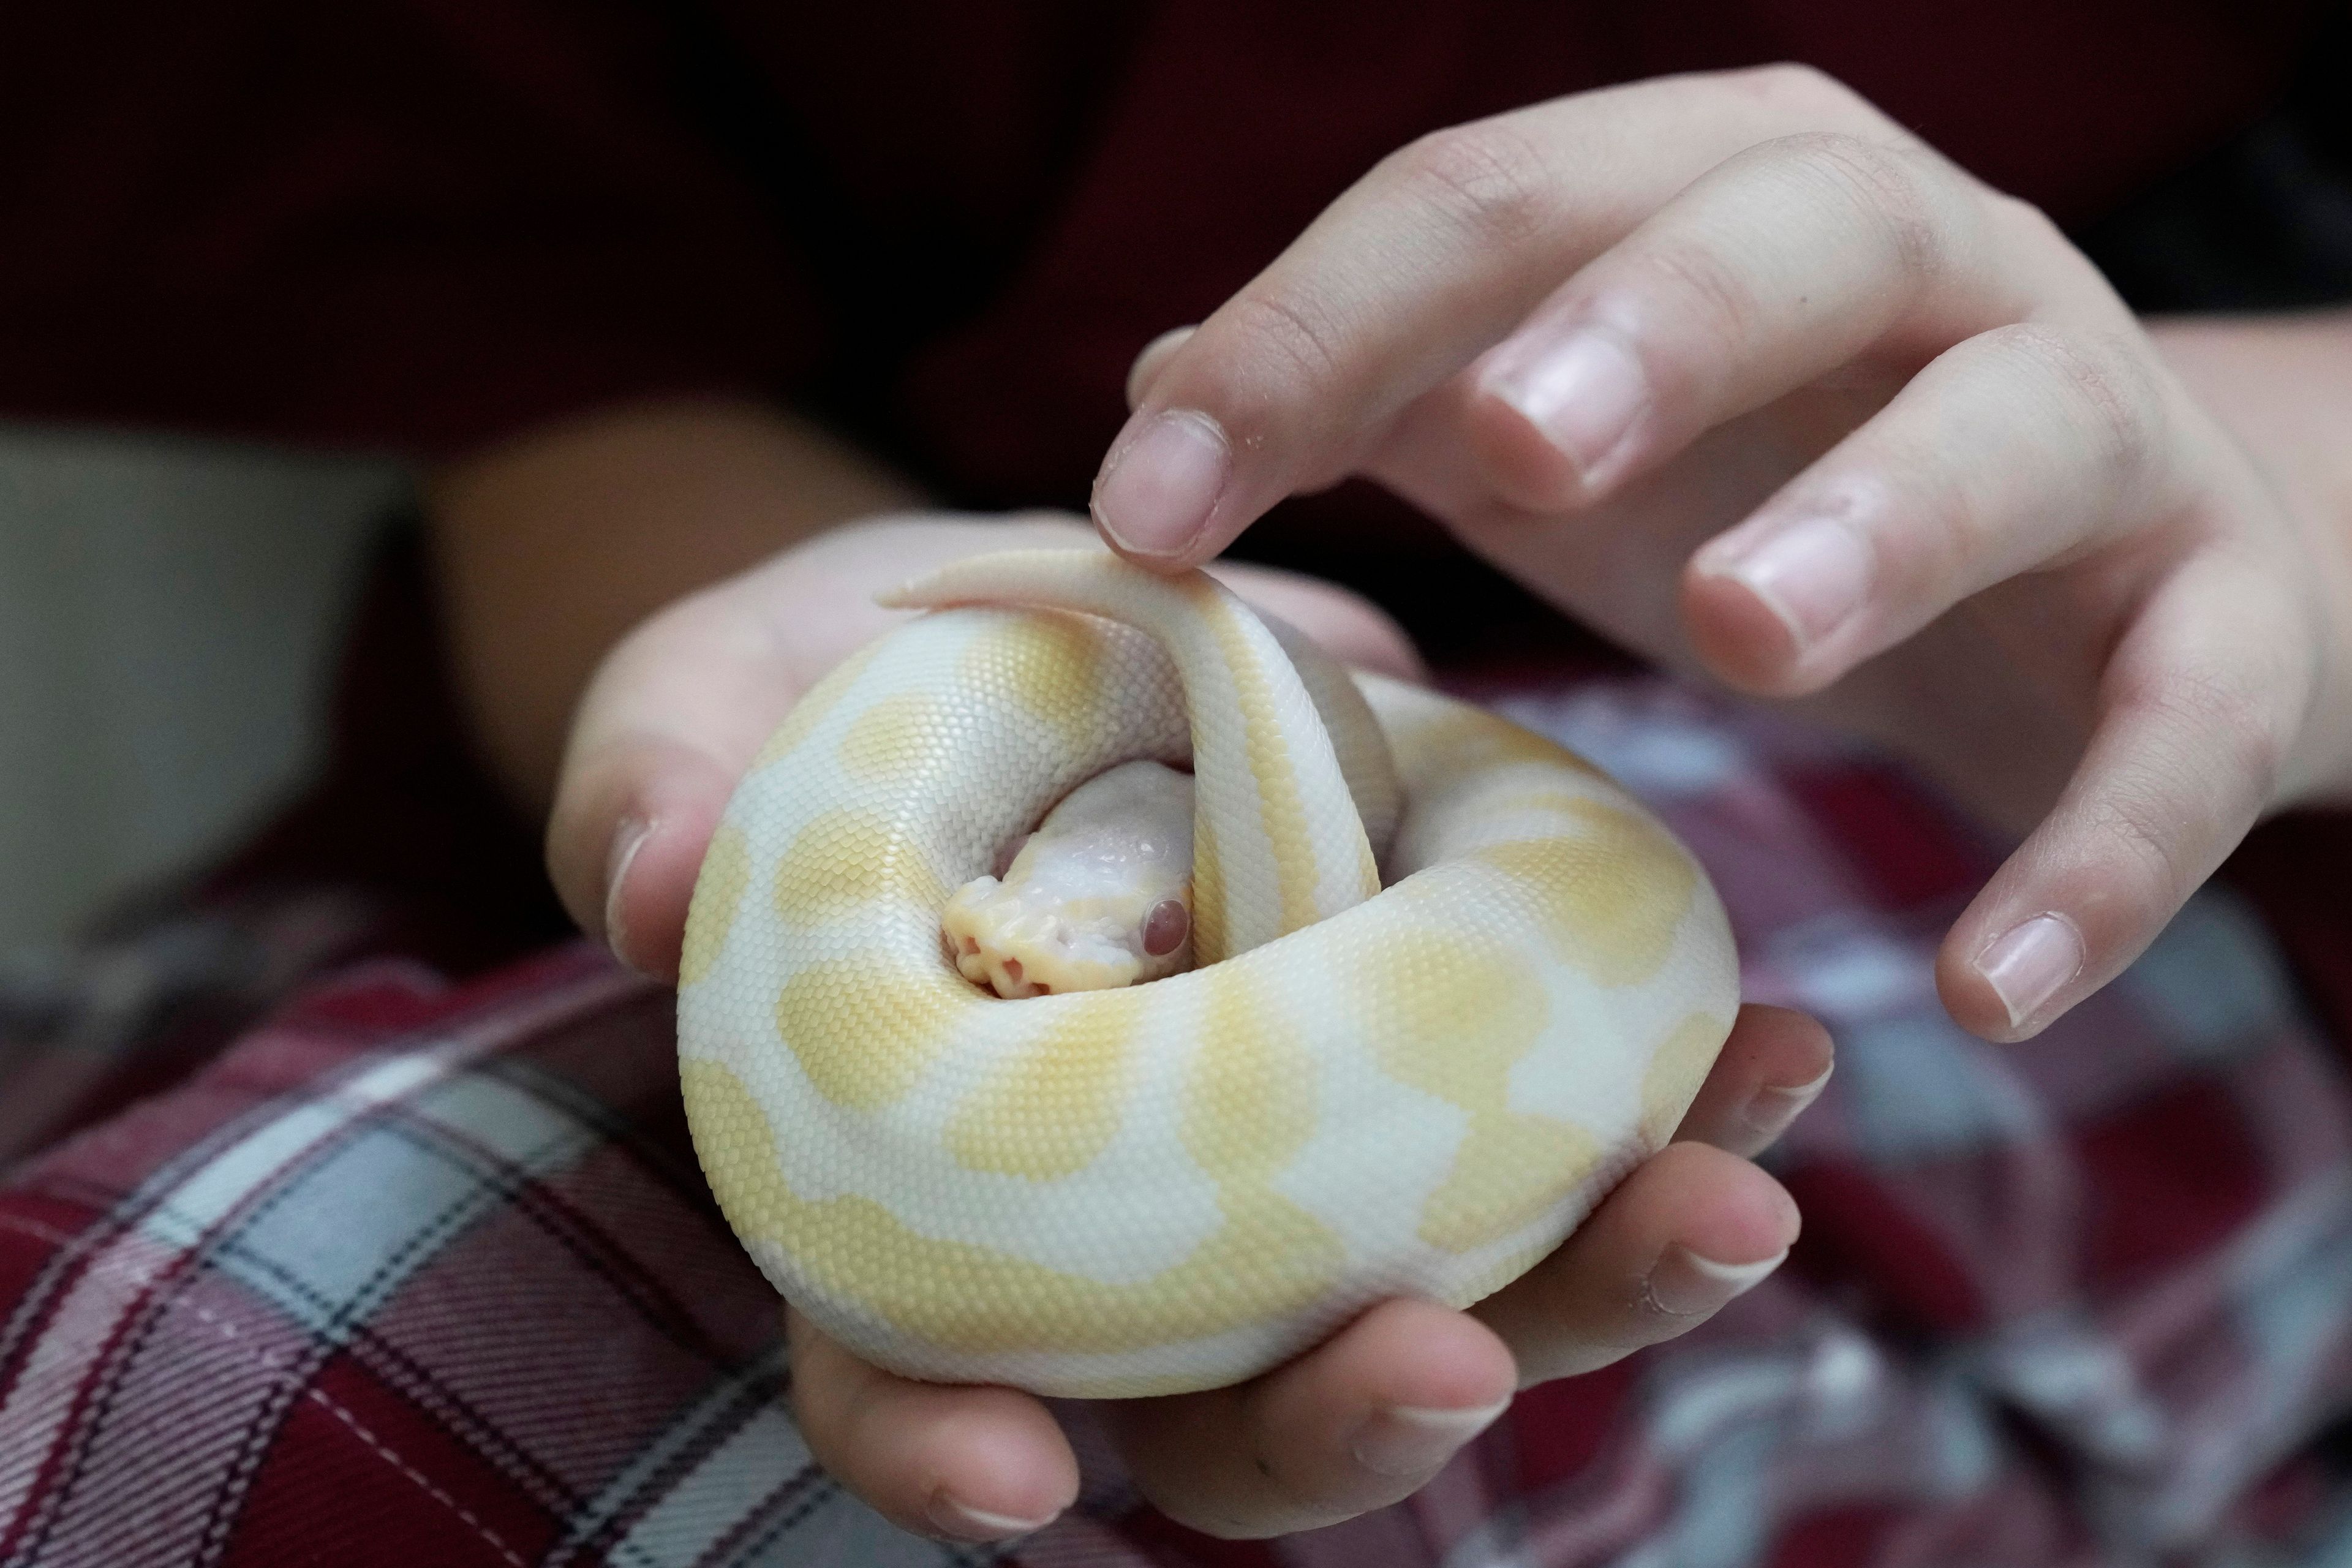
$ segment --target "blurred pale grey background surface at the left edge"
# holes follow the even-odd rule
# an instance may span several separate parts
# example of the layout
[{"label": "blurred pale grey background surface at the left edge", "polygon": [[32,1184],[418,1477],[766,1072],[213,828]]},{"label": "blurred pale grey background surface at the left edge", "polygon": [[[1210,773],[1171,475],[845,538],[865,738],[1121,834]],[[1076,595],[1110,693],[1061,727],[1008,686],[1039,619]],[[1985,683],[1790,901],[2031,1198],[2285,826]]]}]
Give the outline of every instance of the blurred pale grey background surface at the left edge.
[{"label": "blurred pale grey background surface at the left edge", "polygon": [[376,458],[0,425],[0,947],[303,780],[405,484]]}]

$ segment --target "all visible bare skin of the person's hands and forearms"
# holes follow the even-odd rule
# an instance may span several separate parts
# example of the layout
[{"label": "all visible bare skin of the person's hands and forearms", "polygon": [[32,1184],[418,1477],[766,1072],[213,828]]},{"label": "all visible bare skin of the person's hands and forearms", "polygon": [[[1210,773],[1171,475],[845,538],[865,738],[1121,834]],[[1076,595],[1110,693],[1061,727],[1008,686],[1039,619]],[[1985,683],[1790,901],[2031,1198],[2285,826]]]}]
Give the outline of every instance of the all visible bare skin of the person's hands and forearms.
[{"label": "all visible bare skin of the person's hands and forearms", "polygon": [[[2136,322],[2042,214],[1811,71],[1402,148],[1152,343],[1129,400],[1094,512],[1134,559],[1202,562],[1362,473],[1663,663],[1907,752],[2018,839],[1938,971],[1990,1039],[2122,969],[2260,813],[2352,799],[2352,315]],[[736,773],[891,623],[873,590],[1073,534],[920,505],[731,402],[609,409],[435,482],[480,745],[548,809],[560,893],[626,961],[675,976]],[[1771,555],[1806,524],[1828,531]],[[1343,658],[1416,670],[1362,599],[1230,581]],[[1748,1157],[1828,1065],[1811,1020],[1743,1011],[1679,1140],[1524,1281],[1108,1408],[1136,1481],[1223,1535],[1329,1523],[1409,1495],[1512,1387],[1705,1321],[1724,1265],[1762,1276],[1797,1234]],[[983,1540],[1075,1497],[1035,1399],[790,1338],[814,1453],[889,1519]]]}]

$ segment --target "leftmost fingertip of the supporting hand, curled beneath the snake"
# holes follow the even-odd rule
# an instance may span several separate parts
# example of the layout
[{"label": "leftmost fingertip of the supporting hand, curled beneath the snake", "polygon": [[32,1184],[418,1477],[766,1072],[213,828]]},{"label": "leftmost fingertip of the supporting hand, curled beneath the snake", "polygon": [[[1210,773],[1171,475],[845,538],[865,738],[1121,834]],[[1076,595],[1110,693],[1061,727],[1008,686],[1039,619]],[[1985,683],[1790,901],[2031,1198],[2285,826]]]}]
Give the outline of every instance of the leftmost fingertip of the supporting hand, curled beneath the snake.
[{"label": "leftmost fingertip of the supporting hand, curled beneath the snake", "polygon": [[913,1382],[849,1354],[800,1314],[793,1418],[826,1472],[903,1530],[1004,1540],[1077,1500],[1077,1458],[1054,1415],[1000,1387]]}]

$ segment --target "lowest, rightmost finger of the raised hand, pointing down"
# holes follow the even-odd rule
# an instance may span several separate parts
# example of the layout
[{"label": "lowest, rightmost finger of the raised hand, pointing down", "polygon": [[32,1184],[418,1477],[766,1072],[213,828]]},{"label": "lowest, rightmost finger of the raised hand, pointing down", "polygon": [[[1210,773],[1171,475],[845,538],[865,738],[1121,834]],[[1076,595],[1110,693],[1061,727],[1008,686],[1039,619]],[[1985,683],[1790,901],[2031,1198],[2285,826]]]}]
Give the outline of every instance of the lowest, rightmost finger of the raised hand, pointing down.
[{"label": "lowest, rightmost finger of the raised hand, pointing down", "polygon": [[2211,548],[2145,604],[2049,818],[1945,936],[1936,983],[1985,1039],[2027,1039],[2112,980],[2279,792],[2324,646],[2274,564]]}]

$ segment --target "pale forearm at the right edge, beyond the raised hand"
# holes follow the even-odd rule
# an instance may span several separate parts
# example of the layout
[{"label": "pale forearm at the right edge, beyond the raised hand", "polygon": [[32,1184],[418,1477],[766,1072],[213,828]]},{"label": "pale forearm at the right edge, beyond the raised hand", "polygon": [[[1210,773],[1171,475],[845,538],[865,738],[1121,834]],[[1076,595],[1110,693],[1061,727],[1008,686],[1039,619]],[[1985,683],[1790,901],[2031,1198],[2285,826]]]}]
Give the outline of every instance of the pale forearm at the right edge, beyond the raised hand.
[{"label": "pale forearm at the right edge, beyond the raised hand", "polygon": [[2171,317],[2150,336],[2312,534],[2333,661],[2314,715],[2324,743],[2284,783],[2288,799],[2352,802],[2352,310]]}]

